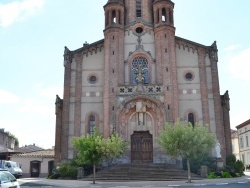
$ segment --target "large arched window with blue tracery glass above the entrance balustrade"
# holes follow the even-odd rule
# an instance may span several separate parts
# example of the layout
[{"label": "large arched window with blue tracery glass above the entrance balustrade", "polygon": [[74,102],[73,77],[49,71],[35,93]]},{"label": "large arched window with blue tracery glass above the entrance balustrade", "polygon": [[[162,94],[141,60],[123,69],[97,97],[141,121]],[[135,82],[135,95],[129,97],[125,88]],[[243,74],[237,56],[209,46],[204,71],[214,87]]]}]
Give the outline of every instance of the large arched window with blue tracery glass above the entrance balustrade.
[{"label": "large arched window with blue tracery glass above the entrance balustrade", "polygon": [[132,84],[137,84],[138,76],[143,77],[143,84],[148,84],[148,62],[145,57],[136,57],[132,62]]}]

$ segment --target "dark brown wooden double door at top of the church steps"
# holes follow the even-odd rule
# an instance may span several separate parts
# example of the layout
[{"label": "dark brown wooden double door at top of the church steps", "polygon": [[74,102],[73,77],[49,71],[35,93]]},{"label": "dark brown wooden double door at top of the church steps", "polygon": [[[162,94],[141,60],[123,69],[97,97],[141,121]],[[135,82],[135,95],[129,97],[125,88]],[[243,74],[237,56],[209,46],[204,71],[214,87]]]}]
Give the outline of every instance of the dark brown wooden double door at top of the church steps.
[{"label": "dark brown wooden double door at top of the church steps", "polygon": [[153,139],[149,131],[135,131],[131,135],[131,163],[153,162]]}]

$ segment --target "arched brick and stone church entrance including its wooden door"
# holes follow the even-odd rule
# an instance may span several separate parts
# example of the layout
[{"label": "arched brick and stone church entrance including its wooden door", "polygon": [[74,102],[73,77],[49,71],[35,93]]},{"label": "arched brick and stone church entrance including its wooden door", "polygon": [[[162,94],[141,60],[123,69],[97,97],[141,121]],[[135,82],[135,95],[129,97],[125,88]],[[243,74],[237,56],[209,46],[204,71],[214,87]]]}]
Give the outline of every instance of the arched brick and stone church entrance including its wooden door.
[{"label": "arched brick and stone church entrance including its wooden door", "polygon": [[122,162],[158,161],[159,147],[153,140],[163,129],[166,114],[163,103],[145,95],[128,98],[120,105],[116,131],[130,143]]}]

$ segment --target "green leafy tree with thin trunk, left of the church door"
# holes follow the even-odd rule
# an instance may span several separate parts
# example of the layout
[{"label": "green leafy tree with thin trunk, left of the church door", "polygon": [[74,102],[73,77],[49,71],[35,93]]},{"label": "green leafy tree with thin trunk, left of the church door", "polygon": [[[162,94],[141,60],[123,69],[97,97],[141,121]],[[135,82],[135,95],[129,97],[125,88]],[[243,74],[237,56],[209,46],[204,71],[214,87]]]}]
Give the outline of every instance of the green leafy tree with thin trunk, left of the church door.
[{"label": "green leafy tree with thin trunk, left of the church door", "polygon": [[117,133],[104,138],[95,128],[94,134],[87,134],[73,140],[73,146],[78,151],[76,162],[79,165],[93,166],[93,184],[95,184],[96,165],[102,160],[110,160],[123,154],[126,144]]}]

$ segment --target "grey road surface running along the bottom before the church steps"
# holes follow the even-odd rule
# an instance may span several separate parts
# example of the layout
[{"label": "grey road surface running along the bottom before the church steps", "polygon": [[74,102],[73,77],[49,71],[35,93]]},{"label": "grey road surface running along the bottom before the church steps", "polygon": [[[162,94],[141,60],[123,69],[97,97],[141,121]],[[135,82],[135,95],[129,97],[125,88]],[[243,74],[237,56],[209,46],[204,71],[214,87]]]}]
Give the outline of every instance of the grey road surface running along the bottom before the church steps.
[{"label": "grey road surface running along the bottom before the church steps", "polygon": [[137,181],[137,182],[96,182],[77,180],[47,180],[42,178],[27,178],[18,180],[21,188],[249,188],[250,177],[215,179],[186,182],[164,182],[164,181]]}]

